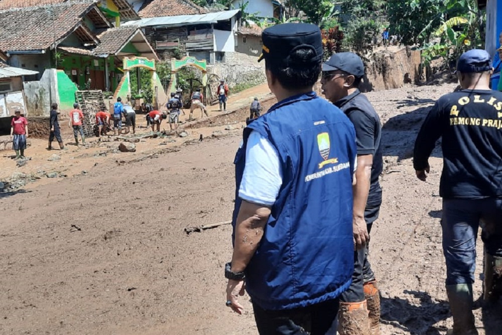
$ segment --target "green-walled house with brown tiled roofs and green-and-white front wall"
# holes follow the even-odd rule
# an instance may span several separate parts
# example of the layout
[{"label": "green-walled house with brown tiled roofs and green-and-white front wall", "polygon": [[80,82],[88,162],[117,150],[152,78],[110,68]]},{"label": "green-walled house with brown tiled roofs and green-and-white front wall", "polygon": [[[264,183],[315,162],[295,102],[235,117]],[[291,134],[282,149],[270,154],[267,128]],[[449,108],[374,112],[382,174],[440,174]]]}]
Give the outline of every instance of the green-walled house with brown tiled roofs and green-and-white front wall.
[{"label": "green-walled house with brown tiled roofs and green-and-white front wall", "polygon": [[158,60],[141,29],[112,28],[108,16],[101,3],[92,1],[0,11],[0,49],[10,56],[9,64],[39,72],[24,78],[28,104],[37,115],[49,112],[41,101],[71,108],[78,89],[114,91],[123,57]]}]

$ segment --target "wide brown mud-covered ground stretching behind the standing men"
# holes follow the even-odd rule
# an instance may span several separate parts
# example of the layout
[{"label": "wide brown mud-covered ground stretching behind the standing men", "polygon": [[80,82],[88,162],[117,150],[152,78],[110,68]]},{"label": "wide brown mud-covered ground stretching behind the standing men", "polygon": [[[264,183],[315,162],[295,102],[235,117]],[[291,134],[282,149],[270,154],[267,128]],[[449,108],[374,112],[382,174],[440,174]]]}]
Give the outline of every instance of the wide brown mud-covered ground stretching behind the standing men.
[{"label": "wide brown mud-covered ground stretching behind the standing men", "polygon": [[[416,179],[410,157],[427,107],[453,87],[368,94],[385,123],[384,204],[370,256],[382,288],[383,335],[444,334],[451,325],[439,226],[441,154],[434,152],[428,183]],[[211,138],[215,130],[223,137]],[[231,228],[184,232],[230,218],[241,129],[189,132],[191,139],[207,136],[169,146],[149,139],[137,153],[98,157],[103,148],[72,148],[59,163],[30,149],[39,156],[18,170],[47,164],[74,173],[0,195],[1,334],[257,334],[247,297],[243,316],[224,306]],[[179,151],[115,162],[170,146]],[[16,170],[8,158],[0,164],[1,174]],[[476,297],[480,291],[478,280]],[[482,318],[491,322],[486,334],[499,333],[500,320],[480,309],[476,318],[480,330]]]}]

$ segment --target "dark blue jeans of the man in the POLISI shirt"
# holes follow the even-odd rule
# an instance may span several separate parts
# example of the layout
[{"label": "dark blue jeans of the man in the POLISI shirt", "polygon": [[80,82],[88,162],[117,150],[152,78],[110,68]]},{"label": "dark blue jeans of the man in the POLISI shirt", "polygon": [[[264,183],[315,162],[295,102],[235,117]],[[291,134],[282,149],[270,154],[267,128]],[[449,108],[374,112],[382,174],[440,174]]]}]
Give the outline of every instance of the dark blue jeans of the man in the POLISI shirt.
[{"label": "dark blue jeans of the man in the POLISI shirt", "polygon": [[502,199],[443,199],[446,285],[474,282],[479,226],[486,252],[502,257]]}]

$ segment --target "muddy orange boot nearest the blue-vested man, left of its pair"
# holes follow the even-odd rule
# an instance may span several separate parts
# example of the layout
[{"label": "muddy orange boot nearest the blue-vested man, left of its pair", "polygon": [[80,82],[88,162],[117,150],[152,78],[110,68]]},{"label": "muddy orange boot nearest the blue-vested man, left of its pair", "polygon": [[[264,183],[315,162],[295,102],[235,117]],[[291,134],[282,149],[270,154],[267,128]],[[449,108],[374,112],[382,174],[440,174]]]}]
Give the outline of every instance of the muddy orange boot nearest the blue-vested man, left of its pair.
[{"label": "muddy orange boot nearest the blue-vested man, left of its pair", "polygon": [[340,302],[338,335],[370,335],[366,300]]}]

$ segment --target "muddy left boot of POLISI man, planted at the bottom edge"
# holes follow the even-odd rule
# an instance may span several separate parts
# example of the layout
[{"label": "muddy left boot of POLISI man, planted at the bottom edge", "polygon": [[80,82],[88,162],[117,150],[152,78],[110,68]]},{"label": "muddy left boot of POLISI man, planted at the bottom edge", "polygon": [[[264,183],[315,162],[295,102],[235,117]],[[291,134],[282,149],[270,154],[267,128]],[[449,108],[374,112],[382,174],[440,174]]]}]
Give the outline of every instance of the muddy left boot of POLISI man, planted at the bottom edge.
[{"label": "muddy left boot of POLISI man, planted at the bottom edge", "polygon": [[478,335],[472,314],[472,284],[446,285],[453,316],[453,329],[447,335]]}]

